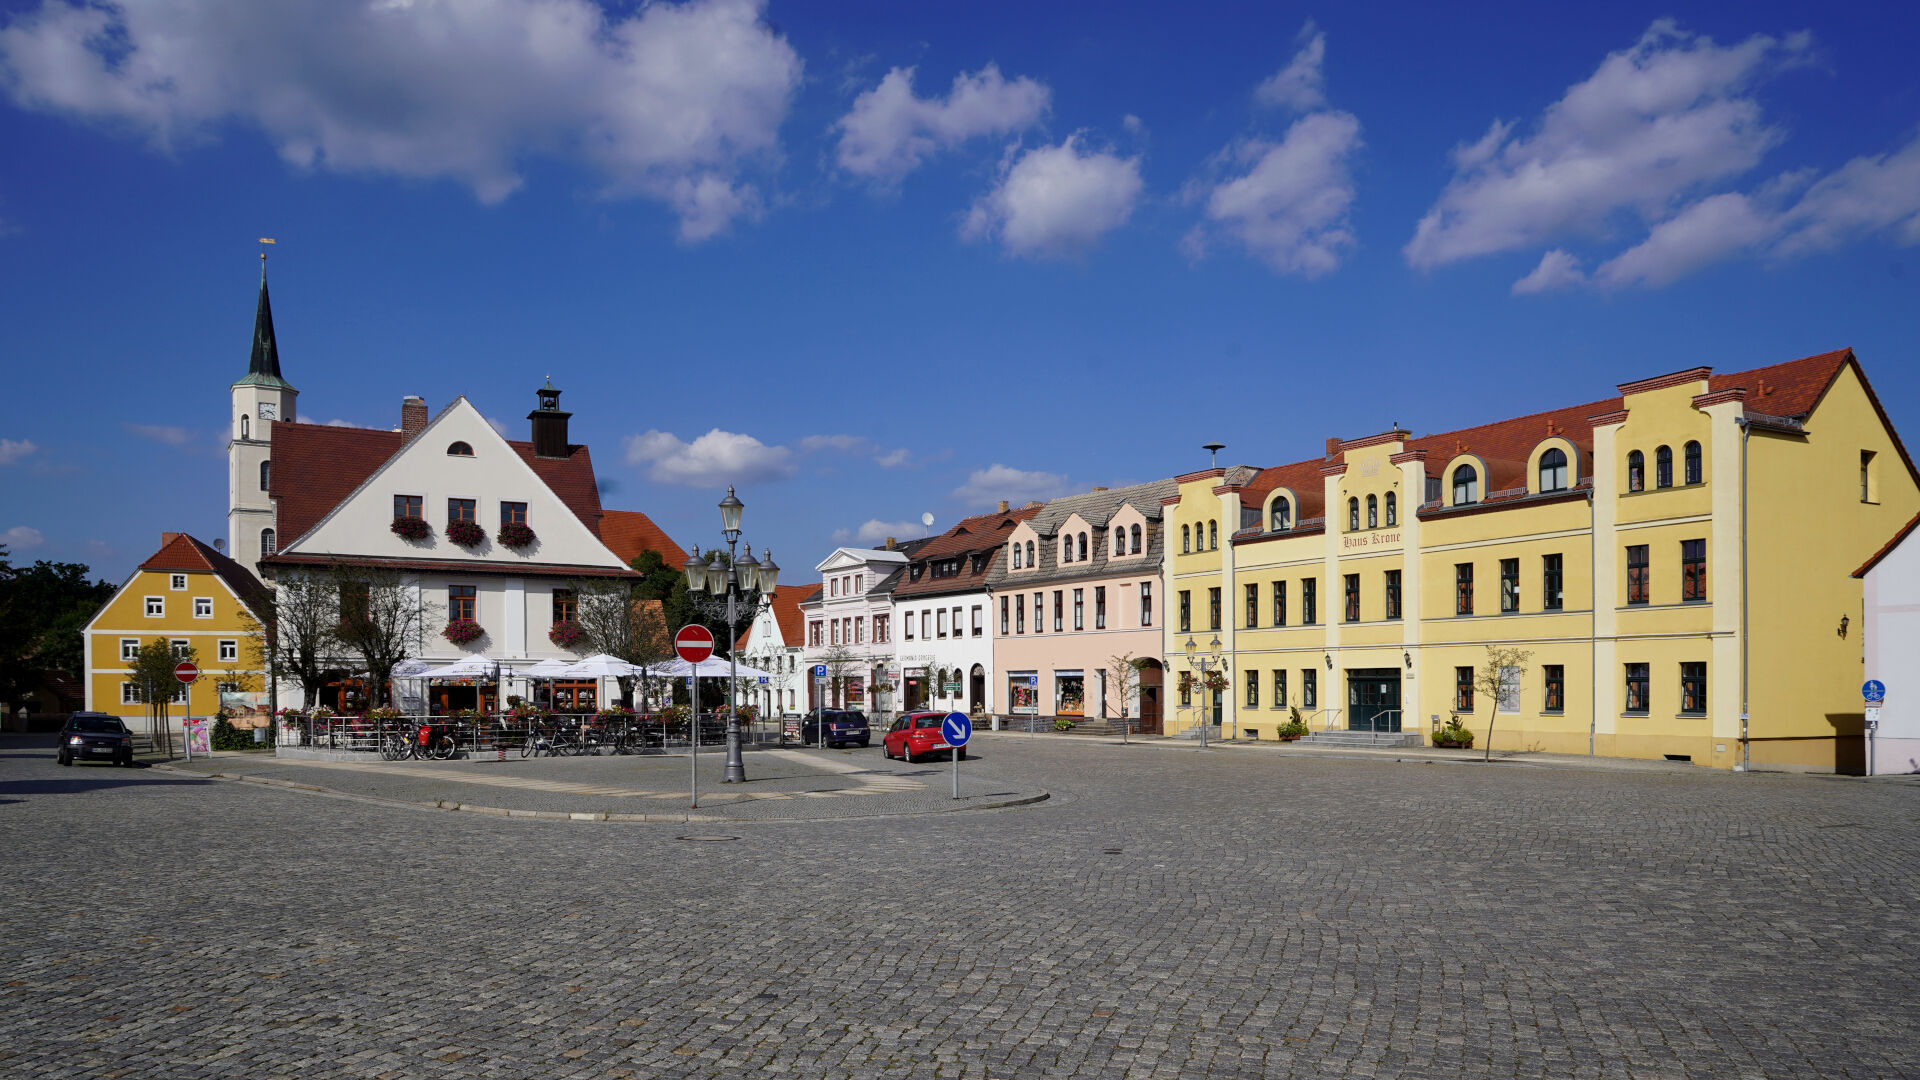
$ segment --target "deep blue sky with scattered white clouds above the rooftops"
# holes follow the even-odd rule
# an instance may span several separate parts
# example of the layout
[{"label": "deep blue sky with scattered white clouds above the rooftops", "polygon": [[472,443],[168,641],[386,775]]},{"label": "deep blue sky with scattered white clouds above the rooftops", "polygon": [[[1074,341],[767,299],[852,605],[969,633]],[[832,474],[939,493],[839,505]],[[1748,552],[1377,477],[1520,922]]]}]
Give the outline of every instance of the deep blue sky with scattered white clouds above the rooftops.
[{"label": "deep blue sky with scattered white clouds above the rooftops", "polygon": [[[1832,6],[1828,6],[1832,8]],[[1899,6],[0,4],[0,534],[225,534],[257,236],[311,421],[549,373],[789,580],[996,498],[1859,350],[1920,425]],[[532,44],[530,44],[532,42]]]}]

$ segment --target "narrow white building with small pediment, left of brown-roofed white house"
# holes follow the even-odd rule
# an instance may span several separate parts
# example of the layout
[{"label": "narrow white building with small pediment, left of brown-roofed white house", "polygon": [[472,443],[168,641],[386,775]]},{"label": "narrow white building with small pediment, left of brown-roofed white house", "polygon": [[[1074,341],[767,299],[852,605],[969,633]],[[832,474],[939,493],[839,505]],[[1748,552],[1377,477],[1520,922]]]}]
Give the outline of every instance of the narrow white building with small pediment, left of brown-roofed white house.
[{"label": "narrow white building with small pediment, left of brown-roofed white house", "polygon": [[[820,592],[801,601],[806,642],[801,663],[828,665],[826,707],[893,711],[899,667],[893,638],[893,588],[906,577],[906,552],[835,548],[820,561]],[[806,707],[818,684],[806,680]]]}]

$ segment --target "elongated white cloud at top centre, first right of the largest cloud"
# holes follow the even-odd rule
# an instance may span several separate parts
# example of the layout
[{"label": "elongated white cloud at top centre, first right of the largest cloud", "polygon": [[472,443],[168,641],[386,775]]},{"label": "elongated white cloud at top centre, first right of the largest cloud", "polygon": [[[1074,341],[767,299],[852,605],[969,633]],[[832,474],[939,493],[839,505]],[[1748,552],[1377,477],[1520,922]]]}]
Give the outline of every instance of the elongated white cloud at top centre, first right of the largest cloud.
[{"label": "elongated white cloud at top centre, first right of the largest cloud", "polygon": [[981,135],[1025,131],[1046,115],[1050,90],[1021,77],[1008,83],[993,63],[954,75],[947,98],[914,96],[914,69],[895,67],[833,123],[839,167],[879,186],[900,183],[939,150]]}]

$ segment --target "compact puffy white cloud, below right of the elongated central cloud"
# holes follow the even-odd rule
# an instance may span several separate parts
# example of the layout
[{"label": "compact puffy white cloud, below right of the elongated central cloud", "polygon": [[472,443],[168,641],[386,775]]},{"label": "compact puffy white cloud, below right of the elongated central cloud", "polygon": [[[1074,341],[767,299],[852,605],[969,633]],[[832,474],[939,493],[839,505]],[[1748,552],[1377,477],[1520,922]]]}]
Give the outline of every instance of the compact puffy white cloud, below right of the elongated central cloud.
[{"label": "compact puffy white cloud, below right of the elongated central cloud", "polygon": [[1000,183],[960,223],[960,236],[998,236],[1012,256],[1062,258],[1087,250],[1119,229],[1140,198],[1140,160],[1083,152],[1071,135],[1060,146],[1037,146],[1000,165]]}]

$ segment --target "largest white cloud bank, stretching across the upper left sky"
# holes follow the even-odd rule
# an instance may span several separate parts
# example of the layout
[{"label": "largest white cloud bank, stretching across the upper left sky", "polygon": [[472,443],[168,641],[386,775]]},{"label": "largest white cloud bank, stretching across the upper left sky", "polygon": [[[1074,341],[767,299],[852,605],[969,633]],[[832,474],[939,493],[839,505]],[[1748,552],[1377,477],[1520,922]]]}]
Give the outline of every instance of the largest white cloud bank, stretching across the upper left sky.
[{"label": "largest white cloud bank, stretching across the upper left sky", "polygon": [[156,150],[261,129],[300,169],[451,179],[495,204],[534,158],[584,161],[607,196],[680,215],[684,240],[753,215],[801,58],[762,0],[42,0],[0,31],[25,108]]}]

